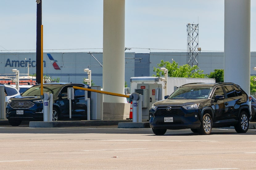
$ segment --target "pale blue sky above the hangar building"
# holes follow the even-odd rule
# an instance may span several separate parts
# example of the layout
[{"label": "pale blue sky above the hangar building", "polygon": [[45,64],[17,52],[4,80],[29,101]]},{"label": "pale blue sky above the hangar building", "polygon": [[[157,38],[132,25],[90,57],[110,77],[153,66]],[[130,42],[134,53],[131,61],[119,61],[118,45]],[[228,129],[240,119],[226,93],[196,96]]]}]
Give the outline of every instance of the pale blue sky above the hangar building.
[{"label": "pale blue sky above the hangar building", "polygon": [[[130,52],[186,51],[188,23],[199,24],[202,52],[224,51],[224,0],[126,0],[125,17]],[[251,0],[251,51],[255,21]],[[103,0],[42,0],[42,24],[44,52],[102,52]],[[35,0],[0,0],[0,52],[35,49]]]}]

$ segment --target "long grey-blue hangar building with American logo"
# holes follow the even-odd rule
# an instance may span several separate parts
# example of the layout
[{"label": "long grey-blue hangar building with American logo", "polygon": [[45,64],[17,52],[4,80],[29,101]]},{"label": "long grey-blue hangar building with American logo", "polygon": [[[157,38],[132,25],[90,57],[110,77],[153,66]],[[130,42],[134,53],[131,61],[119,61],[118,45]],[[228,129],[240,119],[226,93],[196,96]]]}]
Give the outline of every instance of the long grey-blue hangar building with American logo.
[{"label": "long grey-blue hangar building with American logo", "polygon": [[[250,75],[256,75],[253,70],[256,67],[256,52],[251,52]],[[92,80],[96,86],[102,87],[102,52],[48,52],[43,53],[43,75],[52,79],[60,79],[60,82],[83,83],[88,77],[84,71],[89,68],[92,71]],[[175,61],[178,65],[187,64],[187,52],[150,52],[150,53],[125,53],[125,81],[130,87],[131,77],[152,76],[153,70],[161,60]],[[232,61],[230,61],[232,63]],[[29,68],[28,68],[29,65]],[[113,63],[113,71],[118,66]],[[198,67],[205,74],[214,69],[224,69],[224,52],[200,52],[198,54]],[[12,69],[19,70],[20,76],[36,73],[36,53],[34,52],[1,52],[0,76],[16,75]],[[239,70],[238,70],[239,71]],[[109,72],[108,74],[111,74]],[[235,73],[234,73],[235,74]],[[113,82],[115,83],[115,82]]]}]

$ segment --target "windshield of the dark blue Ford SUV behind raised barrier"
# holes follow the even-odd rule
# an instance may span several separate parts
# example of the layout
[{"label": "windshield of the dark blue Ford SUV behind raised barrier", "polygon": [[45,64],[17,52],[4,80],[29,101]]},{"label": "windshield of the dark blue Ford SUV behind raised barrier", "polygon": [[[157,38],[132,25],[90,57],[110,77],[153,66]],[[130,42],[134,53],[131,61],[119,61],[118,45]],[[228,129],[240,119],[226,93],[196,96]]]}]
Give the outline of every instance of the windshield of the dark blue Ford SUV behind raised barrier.
[{"label": "windshield of the dark blue Ford SUV behind raised barrier", "polygon": [[[49,92],[55,95],[60,91],[60,88],[62,86],[60,84],[46,84],[43,85],[43,93]],[[40,96],[41,95],[41,86],[33,86],[29,88],[27,91],[25,91],[22,96]]]}]

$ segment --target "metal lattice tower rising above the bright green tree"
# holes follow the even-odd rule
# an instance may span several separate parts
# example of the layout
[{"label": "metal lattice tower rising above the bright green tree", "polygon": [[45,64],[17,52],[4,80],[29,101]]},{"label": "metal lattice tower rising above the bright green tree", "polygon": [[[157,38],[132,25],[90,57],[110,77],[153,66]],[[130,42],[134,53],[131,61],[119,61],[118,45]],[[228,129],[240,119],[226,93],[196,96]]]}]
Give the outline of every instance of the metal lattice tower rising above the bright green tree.
[{"label": "metal lattice tower rising above the bright green tree", "polygon": [[198,24],[187,24],[188,32],[188,53],[187,53],[187,64],[191,67],[194,65],[198,66]]}]

